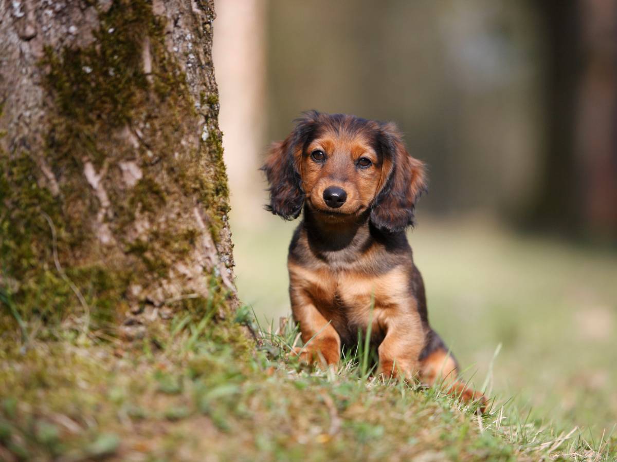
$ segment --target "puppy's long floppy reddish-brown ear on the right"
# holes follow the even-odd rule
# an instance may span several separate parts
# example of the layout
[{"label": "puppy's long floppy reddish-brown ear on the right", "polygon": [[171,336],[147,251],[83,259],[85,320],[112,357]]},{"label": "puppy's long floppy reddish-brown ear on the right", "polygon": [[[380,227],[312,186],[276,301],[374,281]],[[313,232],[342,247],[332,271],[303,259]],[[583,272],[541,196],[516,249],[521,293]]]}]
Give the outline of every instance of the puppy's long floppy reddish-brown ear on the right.
[{"label": "puppy's long floppy reddish-brown ear on the right", "polygon": [[383,167],[371,222],[379,230],[403,231],[414,224],[416,201],[426,192],[424,163],[409,155],[394,124],[380,127],[377,148],[383,155]]}]

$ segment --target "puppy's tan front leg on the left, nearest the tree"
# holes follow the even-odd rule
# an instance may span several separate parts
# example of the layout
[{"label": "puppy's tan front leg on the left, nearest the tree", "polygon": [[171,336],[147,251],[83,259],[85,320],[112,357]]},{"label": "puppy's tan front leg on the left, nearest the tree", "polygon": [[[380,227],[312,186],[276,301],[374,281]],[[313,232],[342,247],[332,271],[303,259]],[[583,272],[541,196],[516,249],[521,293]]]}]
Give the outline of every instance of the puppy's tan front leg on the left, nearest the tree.
[{"label": "puppy's tan front leg on the left, nearest the tree", "polygon": [[341,338],[302,288],[290,290],[291,312],[300,325],[303,347],[294,349],[308,363],[336,365],[341,357]]}]

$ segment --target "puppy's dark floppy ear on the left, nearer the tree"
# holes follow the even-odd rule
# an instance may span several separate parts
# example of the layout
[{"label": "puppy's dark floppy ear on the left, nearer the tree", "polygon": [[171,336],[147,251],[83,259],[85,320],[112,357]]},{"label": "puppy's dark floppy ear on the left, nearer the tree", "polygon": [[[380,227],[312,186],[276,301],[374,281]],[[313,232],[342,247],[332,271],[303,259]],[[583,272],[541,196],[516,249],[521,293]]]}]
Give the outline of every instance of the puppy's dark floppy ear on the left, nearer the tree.
[{"label": "puppy's dark floppy ear on the left, nearer the tree", "polygon": [[299,216],[304,205],[304,191],[300,176],[302,151],[317,129],[320,113],[309,111],[296,120],[296,128],[283,141],[270,146],[262,170],[270,187],[270,204],[266,209],[286,220]]}]

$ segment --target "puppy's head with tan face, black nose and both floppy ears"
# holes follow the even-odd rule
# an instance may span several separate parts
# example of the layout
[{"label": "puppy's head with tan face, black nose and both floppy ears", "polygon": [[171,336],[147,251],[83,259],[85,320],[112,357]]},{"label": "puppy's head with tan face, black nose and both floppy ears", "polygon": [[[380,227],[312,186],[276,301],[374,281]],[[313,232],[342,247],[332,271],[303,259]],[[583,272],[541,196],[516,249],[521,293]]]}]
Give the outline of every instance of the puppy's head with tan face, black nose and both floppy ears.
[{"label": "puppy's head with tan face, black nose and both floppy ears", "polygon": [[270,148],[262,167],[270,183],[267,209],[284,219],[306,203],[325,222],[350,222],[365,211],[378,229],[413,224],[426,188],[424,165],[409,155],[393,124],[310,111]]}]

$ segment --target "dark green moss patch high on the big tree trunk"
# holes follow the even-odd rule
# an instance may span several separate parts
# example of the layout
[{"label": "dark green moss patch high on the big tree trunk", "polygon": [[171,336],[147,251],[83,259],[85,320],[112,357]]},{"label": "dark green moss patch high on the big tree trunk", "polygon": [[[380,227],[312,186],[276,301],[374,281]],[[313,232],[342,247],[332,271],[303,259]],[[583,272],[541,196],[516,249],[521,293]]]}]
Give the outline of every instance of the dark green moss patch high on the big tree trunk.
[{"label": "dark green moss patch high on the big tree trunk", "polygon": [[[118,128],[131,123],[149,91],[143,69],[144,40],[151,40],[152,89],[165,99],[184,85],[184,76],[165,53],[164,22],[143,0],[114,2],[99,12],[101,26],[94,43],[60,55],[46,48],[47,84],[56,97],[60,116],[78,121],[80,128]],[[88,135],[100,134],[88,130]],[[99,159],[102,161],[103,159]]]}]

